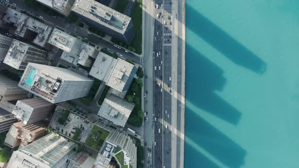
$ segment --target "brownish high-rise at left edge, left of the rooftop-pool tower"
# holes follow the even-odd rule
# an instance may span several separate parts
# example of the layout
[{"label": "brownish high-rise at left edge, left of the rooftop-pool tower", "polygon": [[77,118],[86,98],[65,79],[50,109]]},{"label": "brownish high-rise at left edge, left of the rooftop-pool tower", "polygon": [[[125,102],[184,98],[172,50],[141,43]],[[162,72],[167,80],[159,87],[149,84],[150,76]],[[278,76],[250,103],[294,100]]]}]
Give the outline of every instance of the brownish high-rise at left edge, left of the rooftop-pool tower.
[{"label": "brownish high-rise at left edge, left of the rooftop-pool tower", "polygon": [[25,99],[27,91],[18,87],[18,82],[0,74],[0,101]]}]

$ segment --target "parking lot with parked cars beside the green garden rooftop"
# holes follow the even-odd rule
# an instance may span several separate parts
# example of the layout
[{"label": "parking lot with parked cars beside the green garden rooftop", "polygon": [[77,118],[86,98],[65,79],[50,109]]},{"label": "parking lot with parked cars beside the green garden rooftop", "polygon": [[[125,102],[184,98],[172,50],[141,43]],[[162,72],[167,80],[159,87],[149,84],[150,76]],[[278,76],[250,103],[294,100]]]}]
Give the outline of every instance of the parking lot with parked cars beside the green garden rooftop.
[{"label": "parking lot with parked cars beside the green garden rooftop", "polygon": [[80,135],[78,136],[78,138],[76,138],[77,137],[76,136],[74,140],[78,140],[82,143],[85,143],[89,135],[89,132],[92,128],[92,123],[89,120],[83,118],[81,116],[81,113],[78,112],[74,114],[72,113],[72,111],[69,111],[69,115],[67,116],[67,119],[64,122],[64,124],[60,124],[58,120],[66,111],[68,110],[65,109],[60,110],[56,108],[56,112],[50,123],[50,128],[72,139],[76,133],[76,130],[78,129],[76,134],[80,134]]}]

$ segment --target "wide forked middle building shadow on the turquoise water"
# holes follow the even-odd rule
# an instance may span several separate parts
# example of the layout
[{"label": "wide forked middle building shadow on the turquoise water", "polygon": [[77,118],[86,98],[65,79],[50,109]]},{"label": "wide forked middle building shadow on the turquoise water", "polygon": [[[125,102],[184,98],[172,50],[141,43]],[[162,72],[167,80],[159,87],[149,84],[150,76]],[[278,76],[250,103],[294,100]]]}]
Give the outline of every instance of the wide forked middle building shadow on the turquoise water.
[{"label": "wide forked middle building shadow on the turquoise water", "polygon": [[[221,91],[226,79],[223,71],[193,47],[186,44],[186,51],[193,55],[192,61],[186,66],[197,67],[195,73],[186,73],[186,88],[195,88],[192,92],[186,92],[186,101],[190,101],[196,107],[211,113],[227,122],[236,125],[241,117],[241,112],[223,100],[214,91]],[[188,99],[192,98],[192,99]]]}]

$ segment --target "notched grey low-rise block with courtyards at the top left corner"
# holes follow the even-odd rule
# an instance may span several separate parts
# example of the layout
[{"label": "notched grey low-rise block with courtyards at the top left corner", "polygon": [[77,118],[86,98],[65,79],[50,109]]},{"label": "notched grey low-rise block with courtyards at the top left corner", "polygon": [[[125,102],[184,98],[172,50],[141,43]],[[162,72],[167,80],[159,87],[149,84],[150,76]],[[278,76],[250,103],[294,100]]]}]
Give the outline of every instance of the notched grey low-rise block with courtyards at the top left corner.
[{"label": "notched grey low-rise block with courtyards at the top left corner", "polygon": [[37,33],[33,43],[45,47],[53,28],[16,10],[8,8],[3,21],[17,27],[15,34],[24,37],[28,30]]}]

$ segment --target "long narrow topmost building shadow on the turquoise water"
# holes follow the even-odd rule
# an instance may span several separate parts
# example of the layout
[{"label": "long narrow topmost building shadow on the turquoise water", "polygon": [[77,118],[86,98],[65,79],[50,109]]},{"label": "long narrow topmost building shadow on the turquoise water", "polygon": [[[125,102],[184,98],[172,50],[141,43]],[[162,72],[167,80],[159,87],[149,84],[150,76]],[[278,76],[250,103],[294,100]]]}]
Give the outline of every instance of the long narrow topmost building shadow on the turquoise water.
[{"label": "long narrow topmost building shadow on the turquoise water", "polygon": [[[263,60],[186,3],[186,16],[188,14],[192,17],[186,17],[188,19],[186,27],[232,62],[258,74],[263,74],[266,71],[267,64]],[[244,31],[244,33],[246,32]]]}]

